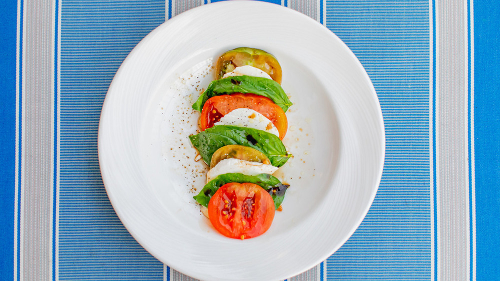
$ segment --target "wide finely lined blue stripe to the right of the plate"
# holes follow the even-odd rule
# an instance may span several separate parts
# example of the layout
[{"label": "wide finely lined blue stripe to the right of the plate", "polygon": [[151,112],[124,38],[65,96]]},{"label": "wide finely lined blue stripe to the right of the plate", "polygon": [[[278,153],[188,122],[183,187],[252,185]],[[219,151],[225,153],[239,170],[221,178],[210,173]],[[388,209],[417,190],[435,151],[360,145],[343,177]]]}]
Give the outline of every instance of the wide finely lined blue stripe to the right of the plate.
[{"label": "wide finely lined blue stripe to the right of the plate", "polygon": [[358,229],[326,260],[326,279],[432,279],[429,1],[324,4],[326,27],[354,52],[373,82],[386,136],[376,197]]}]

